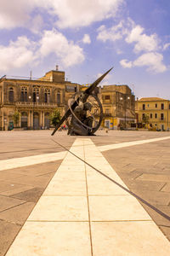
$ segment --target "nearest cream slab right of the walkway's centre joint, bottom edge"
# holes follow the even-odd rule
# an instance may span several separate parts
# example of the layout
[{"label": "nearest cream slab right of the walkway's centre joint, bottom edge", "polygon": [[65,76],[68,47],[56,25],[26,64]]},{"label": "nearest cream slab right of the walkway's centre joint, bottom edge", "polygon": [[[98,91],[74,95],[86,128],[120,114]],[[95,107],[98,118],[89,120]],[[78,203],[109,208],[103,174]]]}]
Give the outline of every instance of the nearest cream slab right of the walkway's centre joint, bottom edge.
[{"label": "nearest cream slab right of the walkway's centre joint, bottom edge", "polygon": [[95,256],[169,255],[167,241],[152,221],[93,222]]}]

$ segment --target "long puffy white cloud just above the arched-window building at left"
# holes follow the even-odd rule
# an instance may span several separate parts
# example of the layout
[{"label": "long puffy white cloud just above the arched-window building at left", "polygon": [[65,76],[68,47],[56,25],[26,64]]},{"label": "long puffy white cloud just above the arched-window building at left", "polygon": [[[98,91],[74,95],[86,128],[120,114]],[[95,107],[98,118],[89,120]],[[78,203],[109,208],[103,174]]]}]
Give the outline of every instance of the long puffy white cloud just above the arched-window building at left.
[{"label": "long puffy white cloud just above the arched-window building at left", "polygon": [[0,71],[6,72],[26,65],[35,66],[39,61],[44,61],[49,54],[56,55],[57,61],[63,67],[80,64],[85,59],[81,47],[68,41],[60,32],[52,30],[43,32],[38,42],[23,36],[11,41],[8,46],[0,45],[0,60],[3,63]]}]

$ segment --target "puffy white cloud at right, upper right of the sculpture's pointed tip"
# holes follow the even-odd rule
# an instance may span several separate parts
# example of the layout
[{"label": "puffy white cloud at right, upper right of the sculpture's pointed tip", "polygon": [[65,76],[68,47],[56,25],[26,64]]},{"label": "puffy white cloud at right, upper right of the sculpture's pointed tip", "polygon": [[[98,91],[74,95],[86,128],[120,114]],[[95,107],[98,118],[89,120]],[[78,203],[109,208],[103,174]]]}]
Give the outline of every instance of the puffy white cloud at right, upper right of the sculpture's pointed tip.
[{"label": "puffy white cloud at right, upper right of the sculpture's pointed tip", "polygon": [[144,28],[141,26],[133,27],[132,31],[129,32],[126,42],[128,44],[132,44],[135,42],[134,45],[134,52],[139,53],[140,51],[155,51],[158,49],[159,40],[156,34],[152,34],[147,36],[143,33]]}]

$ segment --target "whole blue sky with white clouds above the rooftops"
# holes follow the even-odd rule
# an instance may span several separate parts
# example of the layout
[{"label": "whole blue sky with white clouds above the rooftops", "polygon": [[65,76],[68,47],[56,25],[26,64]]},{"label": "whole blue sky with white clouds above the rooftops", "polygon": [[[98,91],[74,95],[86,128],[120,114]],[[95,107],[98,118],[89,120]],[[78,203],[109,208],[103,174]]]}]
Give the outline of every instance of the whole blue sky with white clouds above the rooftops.
[{"label": "whole blue sky with white clouds above the rooftops", "polygon": [[169,0],[0,0],[0,77],[127,84],[170,100]]}]

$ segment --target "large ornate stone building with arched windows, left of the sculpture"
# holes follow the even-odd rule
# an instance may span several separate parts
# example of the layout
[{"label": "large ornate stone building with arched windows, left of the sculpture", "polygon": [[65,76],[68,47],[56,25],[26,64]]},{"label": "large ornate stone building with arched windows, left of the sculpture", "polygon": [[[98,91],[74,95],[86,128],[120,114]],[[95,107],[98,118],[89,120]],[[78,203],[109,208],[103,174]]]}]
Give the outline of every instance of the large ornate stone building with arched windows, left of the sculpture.
[{"label": "large ornate stone building with arched windows, left of the sculpture", "polygon": [[79,90],[79,84],[65,81],[65,72],[52,70],[44,77],[32,79],[0,79],[0,130],[14,128],[14,111],[20,113],[18,126],[46,129],[49,115],[58,108],[65,112],[67,100]]}]

